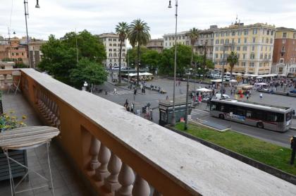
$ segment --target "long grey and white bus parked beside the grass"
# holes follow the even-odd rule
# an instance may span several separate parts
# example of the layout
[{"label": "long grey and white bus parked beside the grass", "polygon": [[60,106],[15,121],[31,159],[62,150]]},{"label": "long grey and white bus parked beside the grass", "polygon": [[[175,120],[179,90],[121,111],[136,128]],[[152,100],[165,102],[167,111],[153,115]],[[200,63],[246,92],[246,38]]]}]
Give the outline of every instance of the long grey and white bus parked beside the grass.
[{"label": "long grey and white bus parked beside the grass", "polygon": [[211,116],[258,128],[285,132],[291,126],[292,109],[288,107],[240,102],[236,99],[212,99],[210,108]]}]

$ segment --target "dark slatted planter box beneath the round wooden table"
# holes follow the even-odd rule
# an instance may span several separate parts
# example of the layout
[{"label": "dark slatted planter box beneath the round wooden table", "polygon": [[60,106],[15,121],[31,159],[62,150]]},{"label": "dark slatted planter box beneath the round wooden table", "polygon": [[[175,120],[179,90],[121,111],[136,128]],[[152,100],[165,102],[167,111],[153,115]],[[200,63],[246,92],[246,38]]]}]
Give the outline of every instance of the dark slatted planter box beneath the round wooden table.
[{"label": "dark slatted planter box beneath the round wooden table", "polygon": [[[8,155],[11,159],[14,159],[20,164],[27,166],[27,151],[26,150],[8,150]],[[24,176],[27,173],[27,169],[16,162],[10,161],[11,164],[11,172],[13,174],[13,178]],[[8,161],[6,155],[3,150],[0,149],[0,180],[9,179],[9,170],[8,170]]]}]

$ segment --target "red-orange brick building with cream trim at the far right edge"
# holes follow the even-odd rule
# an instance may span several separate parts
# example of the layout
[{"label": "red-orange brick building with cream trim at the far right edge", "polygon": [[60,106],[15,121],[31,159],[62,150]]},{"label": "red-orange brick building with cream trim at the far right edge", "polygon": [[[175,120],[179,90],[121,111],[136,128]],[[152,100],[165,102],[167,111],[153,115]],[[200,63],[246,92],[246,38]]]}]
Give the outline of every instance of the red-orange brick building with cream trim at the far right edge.
[{"label": "red-orange brick building with cream trim at the far right edge", "polygon": [[273,49],[272,73],[296,73],[296,30],[286,27],[276,28]]}]

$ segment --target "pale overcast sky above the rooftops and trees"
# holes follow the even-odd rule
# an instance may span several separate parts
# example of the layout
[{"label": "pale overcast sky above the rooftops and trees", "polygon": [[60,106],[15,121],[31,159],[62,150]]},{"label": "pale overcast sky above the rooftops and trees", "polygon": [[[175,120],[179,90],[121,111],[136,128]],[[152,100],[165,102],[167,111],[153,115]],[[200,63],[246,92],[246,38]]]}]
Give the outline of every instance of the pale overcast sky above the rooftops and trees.
[{"label": "pale overcast sky above the rooftops and trees", "polygon": [[[39,0],[39,9],[35,0],[28,1],[29,36],[41,39],[51,34],[62,37],[75,28],[93,34],[113,32],[118,22],[136,18],[148,23],[152,38],[175,30],[175,8],[168,9],[168,0]],[[23,0],[0,0],[0,5],[0,35],[8,37],[10,27],[16,36],[24,36]],[[245,24],[296,28],[296,0],[179,0],[178,32],[209,25],[225,27],[237,15]]]}]

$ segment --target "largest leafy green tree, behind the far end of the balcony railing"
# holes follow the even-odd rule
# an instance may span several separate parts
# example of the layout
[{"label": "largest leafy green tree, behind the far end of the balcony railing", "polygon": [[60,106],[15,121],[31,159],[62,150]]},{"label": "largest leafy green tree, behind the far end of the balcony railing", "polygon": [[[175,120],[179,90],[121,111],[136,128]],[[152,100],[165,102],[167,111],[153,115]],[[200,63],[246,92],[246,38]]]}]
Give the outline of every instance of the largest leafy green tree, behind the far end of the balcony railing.
[{"label": "largest leafy green tree, behind the far end of the balcony railing", "polygon": [[[84,30],[77,35],[75,32],[68,32],[62,39],[56,39],[54,35],[50,35],[48,42],[42,44],[43,58],[38,67],[42,71],[48,71],[57,80],[76,86],[76,82],[73,83],[75,81],[73,77],[70,80],[70,73],[72,73],[73,69],[79,68],[77,49],[78,59],[87,58],[87,62],[95,62],[97,64],[101,64],[106,59],[104,44],[99,42],[96,36]],[[87,70],[82,69],[82,71]]]}]

